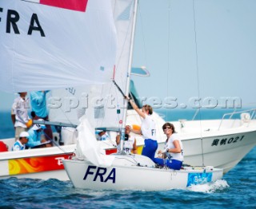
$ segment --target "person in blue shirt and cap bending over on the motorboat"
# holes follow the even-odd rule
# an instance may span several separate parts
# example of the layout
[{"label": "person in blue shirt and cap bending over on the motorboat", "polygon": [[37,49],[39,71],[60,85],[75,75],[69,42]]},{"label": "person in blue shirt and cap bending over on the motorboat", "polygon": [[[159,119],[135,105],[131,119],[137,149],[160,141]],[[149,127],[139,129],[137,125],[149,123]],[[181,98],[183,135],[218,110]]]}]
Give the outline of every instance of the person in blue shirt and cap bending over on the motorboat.
[{"label": "person in blue shirt and cap bending over on the motorboat", "polygon": [[27,147],[33,148],[46,142],[45,139],[41,139],[42,129],[45,129],[46,126],[44,124],[34,124],[32,128],[28,131],[29,133],[29,142],[26,144]]}]

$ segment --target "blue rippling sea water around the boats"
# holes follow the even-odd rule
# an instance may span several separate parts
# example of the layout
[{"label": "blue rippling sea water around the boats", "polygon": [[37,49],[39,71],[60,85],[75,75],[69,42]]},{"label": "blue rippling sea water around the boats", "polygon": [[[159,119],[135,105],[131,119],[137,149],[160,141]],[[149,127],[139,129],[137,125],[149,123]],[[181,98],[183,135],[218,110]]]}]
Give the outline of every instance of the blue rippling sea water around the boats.
[{"label": "blue rippling sea water around the boats", "polygon": [[[202,120],[222,110],[200,112]],[[194,110],[158,111],[166,120],[186,119]],[[14,136],[10,112],[0,112],[0,137]],[[157,180],[149,182],[157,184]],[[170,191],[90,191],[58,179],[0,179],[0,208],[256,208],[256,148],[214,183]]]}]

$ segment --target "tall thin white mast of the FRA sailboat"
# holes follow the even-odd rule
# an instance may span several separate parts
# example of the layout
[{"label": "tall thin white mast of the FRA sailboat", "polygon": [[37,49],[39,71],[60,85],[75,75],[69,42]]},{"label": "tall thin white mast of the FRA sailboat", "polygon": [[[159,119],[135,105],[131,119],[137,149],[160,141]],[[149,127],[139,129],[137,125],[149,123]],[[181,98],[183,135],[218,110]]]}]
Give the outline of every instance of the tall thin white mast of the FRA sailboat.
[{"label": "tall thin white mast of the FRA sailboat", "polygon": [[[130,44],[128,74],[127,74],[127,81],[126,81],[126,96],[129,96],[129,93],[130,93],[130,72],[131,72],[131,65],[132,65],[133,53],[134,53],[134,36],[135,36],[135,28],[136,28],[136,20],[137,20],[137,8],[138,8],[138,0],[134,0],[134,19],[133,19],[131,41],[130,41],[131,44]],[[125,100],[125,108],[124,108],[123,119],[122,119],[121,142],[120,142],[121,151],[123,149],[123,142],[125,139],[127,105],[128,105],[128,101]]]}]

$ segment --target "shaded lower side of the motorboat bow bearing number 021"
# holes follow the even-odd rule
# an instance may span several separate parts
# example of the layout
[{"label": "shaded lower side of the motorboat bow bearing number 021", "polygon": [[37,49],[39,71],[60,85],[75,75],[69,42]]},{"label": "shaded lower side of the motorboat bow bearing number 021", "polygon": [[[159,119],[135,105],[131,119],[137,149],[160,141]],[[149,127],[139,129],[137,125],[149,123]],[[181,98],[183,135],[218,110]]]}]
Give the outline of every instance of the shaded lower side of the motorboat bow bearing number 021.
[{"label": "shaded lower side of the motorboat bow bearing number 021", "polygon": [[[223,168],[226,173],[234,168],[256,145],[256,131],[237,132],[236,134],[215,132],[212,134],[215,136],[202,136],[202,138],[194,139],[187,139],[185,134],[180,134],[183,138],[184,164],[211,165]],[[159,144],[159,148],[162,146],[163,144]]]}]

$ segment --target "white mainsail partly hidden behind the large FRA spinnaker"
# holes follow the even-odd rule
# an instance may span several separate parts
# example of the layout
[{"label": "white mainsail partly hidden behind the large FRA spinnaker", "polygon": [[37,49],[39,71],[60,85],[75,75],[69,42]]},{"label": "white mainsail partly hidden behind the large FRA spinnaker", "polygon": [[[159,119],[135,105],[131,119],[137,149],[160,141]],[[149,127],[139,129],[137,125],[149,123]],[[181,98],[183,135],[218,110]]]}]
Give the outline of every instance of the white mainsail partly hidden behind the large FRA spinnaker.
[{"label": "white mainsail partly hidden behind the large FRA spinnaker", "polygon": [[[129,72],[129,57],[134,18],[134,0],[113,0],[114,25],[118,48],[114,80],[125,92]],[[50,120],[78,124],[78,115],[86,111],[94,127],[117,127],[123,118],[124,100],[114,84],[70,86],[52,92],[53,100],[62,105],[50,108]],[[51,102],[51,101],[50,101]],[[52,101],[53,102],[53,101]],[[120,110],[118,114],[117,109]]]}]

